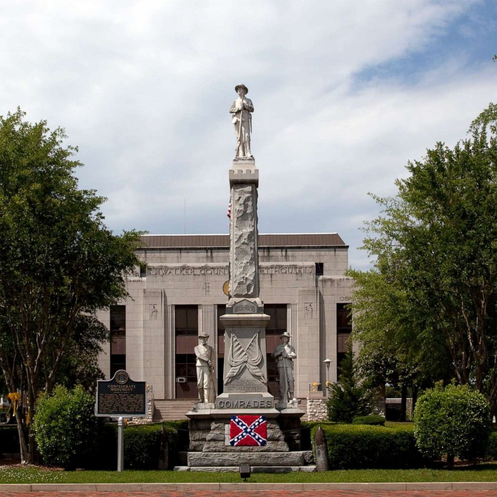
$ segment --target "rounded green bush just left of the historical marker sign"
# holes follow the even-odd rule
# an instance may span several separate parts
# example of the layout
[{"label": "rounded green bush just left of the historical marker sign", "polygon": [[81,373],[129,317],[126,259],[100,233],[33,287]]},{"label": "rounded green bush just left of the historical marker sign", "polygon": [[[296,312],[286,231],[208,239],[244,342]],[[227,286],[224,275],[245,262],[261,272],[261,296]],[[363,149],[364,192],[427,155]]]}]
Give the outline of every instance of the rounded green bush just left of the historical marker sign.
[{"label": "rounded green bush just left of the historical marker sign", "polygon": [[81,385],[74,390],[57,386],[38,401],[35,440],[43,460],[65,469],[85,464],[98,437],[95,398]]}]

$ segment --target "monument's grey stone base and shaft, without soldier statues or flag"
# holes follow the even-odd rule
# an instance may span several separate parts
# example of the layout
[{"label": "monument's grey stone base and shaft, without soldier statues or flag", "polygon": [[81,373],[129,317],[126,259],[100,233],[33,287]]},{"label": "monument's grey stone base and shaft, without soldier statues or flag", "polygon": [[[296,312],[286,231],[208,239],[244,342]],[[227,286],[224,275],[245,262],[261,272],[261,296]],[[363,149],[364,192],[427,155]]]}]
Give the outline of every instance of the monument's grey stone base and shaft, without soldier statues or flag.
[{"label": "monument's grey stone base and shaft, without soldier statues or flag", "polygon": [[[266,326],[259,298],[257,187],[259,171],[254,160],[233,160],[229,170],[231,223],[229,291],[224,325],[224,391],[215,404],[196,404],[190,419],[187,471],[237,471],[250,464],[253,471],[312,471],[312,452],[301,450],[297,402],[275,407],[268,392]],[[264,446],[231,446],[229,425],[235,415],[265,416],[268,440]]]}]

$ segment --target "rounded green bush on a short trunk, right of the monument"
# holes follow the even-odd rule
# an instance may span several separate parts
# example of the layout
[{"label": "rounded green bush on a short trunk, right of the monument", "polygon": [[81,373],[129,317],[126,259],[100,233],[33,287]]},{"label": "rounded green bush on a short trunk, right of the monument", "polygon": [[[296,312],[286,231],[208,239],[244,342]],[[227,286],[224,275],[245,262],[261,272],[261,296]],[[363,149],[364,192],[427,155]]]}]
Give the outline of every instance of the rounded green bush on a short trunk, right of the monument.
[{"label": "rounded green bush on a short trunk, right of the monument", "polygon": [[467,385],[439,383],[421,396],[414,411],[414,436],[427,457],[460,458],[483,455],[490,433],[488,401]]}]

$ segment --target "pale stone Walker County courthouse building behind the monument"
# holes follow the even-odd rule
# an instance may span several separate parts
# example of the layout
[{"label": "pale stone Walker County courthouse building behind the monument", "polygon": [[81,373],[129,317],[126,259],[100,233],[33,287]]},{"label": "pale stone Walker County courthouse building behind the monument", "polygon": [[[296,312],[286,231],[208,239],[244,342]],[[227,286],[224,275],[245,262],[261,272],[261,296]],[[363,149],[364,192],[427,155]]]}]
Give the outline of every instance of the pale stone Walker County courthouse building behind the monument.
[{"label": "pale stone Walker County courthouse building behind the monument", "polygon": [[[129,297],[102,312],[111,331],[100,367],[107,378],[126,369],[146,381],[161,400],[197,398],[195,355],[199,332],[217,357],[217,393],[222,393],[224,329],[219,316],[227,301],[229,235],[145,235],[137,251],[146,267],[129,278]],[[271,316],[266,329],[268,389],[278,397],[271,352],[279,336],[292,335],[297,359],[296,396],[305,399],[314,383],[337,380],[351,332],[345,305],[352,280],[344,276],[348,246],[337,233],[259,235],[260,297]],[[331,363],[323,362],[331,359]],[[329,366],[329,367],[327,367]],[[305,405],[305,402],[303,403]]]}]

